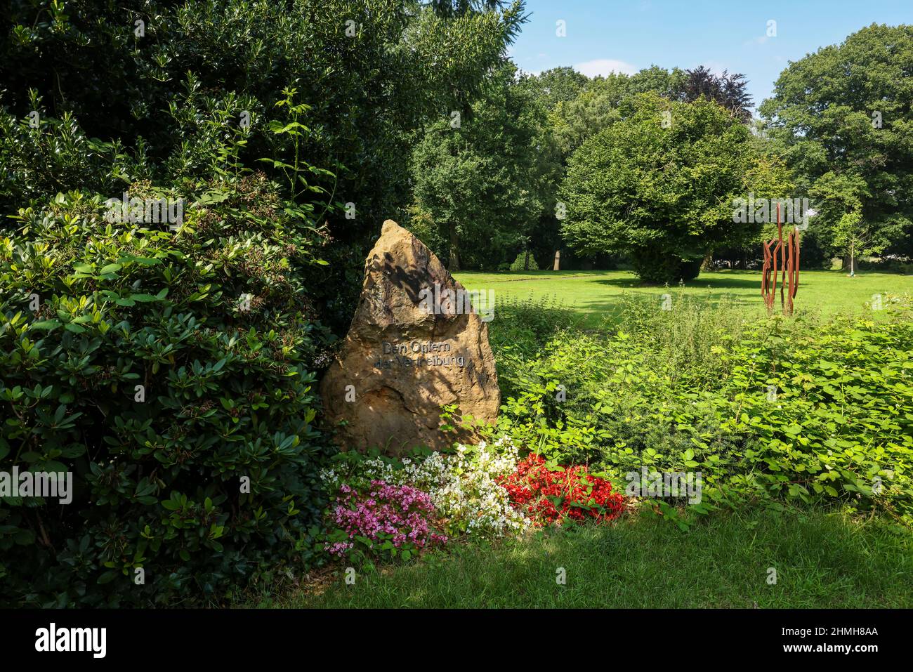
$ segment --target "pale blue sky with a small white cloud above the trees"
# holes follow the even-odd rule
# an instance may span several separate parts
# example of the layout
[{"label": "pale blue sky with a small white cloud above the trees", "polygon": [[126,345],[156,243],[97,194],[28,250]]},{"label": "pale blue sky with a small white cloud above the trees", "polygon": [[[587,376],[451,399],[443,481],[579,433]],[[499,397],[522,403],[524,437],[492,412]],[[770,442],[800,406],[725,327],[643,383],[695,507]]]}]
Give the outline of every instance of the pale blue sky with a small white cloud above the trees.
[{"label": "pale blue sky with a small white cloud above the trees", "polygon": [[[757,106],[789,61],[863,26],[913,23],[913,0],[527,0],[510,48],[519,68],[573,66],[587,75],[705,65],[741,72]],[[563,20],[566,37],[557,37]],[[768,37],[768,21],[776,37]]]}]

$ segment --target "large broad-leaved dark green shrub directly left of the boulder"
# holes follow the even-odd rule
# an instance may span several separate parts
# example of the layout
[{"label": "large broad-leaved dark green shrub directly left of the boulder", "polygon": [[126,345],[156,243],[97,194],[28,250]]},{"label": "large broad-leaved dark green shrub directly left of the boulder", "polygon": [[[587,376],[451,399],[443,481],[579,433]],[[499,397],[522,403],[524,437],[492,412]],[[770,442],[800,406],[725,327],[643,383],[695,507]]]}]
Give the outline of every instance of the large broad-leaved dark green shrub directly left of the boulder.
[{"label": "large broad-leaved dark green shrub directly left of the boulder", "polygon": [[262,174],[180,195],[174,228],[69,193],[0,237],[0,470],[74,477],[0,503],[0,604],[214,603],[313,560],[321,232]]}]

